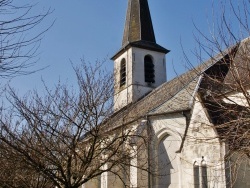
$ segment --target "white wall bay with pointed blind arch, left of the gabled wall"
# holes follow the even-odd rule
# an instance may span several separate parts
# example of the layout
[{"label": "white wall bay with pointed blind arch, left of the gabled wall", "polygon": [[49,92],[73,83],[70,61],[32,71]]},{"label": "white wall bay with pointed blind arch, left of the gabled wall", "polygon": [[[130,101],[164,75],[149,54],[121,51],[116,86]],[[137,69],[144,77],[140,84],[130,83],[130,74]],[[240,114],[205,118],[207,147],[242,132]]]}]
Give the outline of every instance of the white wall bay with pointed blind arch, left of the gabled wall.
[{"label": "white wall bay with pointed blind arch, left of the gabled wall", "polygon": [[[168,157],[168,160],[163,162],[164,164],[156,165],[154,170],[156,174],[158,173],[158,176],[156,175],[152,178],[153,187],[185,187],[182,183],[181,153],[178,153],[186,126],[185,117],[180,113],[158,116],[150,120],[155,135],[151,146],[152,159],[156,160],[156,163],[164,161],[164,155],[161,154],[162,145],[166,147],[165,156]],[[164,169],[162,171],[162,167],[168,169],[169,172],[167,170],[164,171]],[[163,177],[160,177],[162,175]],[[162,181],[164,178],[166,181]]]}]

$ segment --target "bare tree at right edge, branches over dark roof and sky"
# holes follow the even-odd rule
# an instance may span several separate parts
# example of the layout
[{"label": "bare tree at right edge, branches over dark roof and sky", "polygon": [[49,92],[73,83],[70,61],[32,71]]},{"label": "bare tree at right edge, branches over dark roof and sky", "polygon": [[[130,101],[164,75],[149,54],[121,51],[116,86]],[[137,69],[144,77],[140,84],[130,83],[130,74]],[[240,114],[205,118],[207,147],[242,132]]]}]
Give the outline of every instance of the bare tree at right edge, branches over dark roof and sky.
[{"label": "bare tree at right edge, branches over dark roof and sky", "polygon": [[209,35],[196,26],[199,37],[195,37],[195,55],[201,62],[204,56],[210,57],[208,68],[202,73],[199,95],[218,137],[227,145],[226,170],[230,169],[228,183],[233,186],[249,171],[250,161],[250,39],[246,38],[250,35],[250,1],[220,1],[220,5],[221,12],[215,11]]}]

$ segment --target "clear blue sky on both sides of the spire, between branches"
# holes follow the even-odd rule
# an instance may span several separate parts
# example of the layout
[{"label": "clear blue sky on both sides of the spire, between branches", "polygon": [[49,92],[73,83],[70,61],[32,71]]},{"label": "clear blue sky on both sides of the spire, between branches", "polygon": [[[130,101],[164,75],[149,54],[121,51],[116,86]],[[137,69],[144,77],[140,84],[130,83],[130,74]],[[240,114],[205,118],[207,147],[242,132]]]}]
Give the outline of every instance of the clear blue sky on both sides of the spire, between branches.
[{"label": "clear blue sky on both sides of the spire, between branches", "polygon": [[[236,2],[237,0],[235,0]],[[38,2],[34,12],[48,8],[54,12],[46,19],[55,23],[45,34],[39,49],[40,60],[33,69],[47,67],[35,74],[17,77],[11,86],[19,92],[38,89],[43,79],[49,87],[60,80],[74,84],[71,62],[80,59],[93,63],[107,59],[107,69],[112,70],[109,58],[121,47],[127,0],[22,0],[21,3]],[[194,24],[204,33],[213,23],[213,12],[218,14],[220,4],[212,0],[148,0],[157,43],[171,50],[167,54],[167,79],[170,80],[186,71],[183,52],[188,54],[194,65],[199,60],[190,53],[195,48],[193,35],[197,34]],[[214,4],[214,5],[213,5]],[[204,57],[206,58],[206,57]]]}]

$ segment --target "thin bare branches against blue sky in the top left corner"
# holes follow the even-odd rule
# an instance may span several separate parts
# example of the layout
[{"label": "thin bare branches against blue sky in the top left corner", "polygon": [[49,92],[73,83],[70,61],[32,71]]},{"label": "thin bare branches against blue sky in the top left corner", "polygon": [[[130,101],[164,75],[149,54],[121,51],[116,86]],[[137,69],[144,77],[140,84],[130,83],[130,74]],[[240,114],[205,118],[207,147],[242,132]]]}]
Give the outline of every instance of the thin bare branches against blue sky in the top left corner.
[{"label": "thin bare branches against blue sky in the top left corner", "polygon": [[[35,32],[50,10],[32,13],[34,5],[17,5],[14,0],[0,0],[0,77],[29,74],[28,68],[37,59],[37,50],[43,34]],[[19,2],[20,4],[20,2]]]}]

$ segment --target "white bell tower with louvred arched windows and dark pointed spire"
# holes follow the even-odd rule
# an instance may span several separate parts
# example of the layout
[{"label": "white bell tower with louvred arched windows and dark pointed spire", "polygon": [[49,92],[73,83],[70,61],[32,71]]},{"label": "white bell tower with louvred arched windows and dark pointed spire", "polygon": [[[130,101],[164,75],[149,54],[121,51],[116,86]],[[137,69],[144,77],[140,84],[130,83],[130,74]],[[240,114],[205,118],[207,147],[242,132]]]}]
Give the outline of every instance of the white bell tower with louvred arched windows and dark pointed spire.
[{"label": "white bell tower with louvred arched windows and dark pointed spire", "polygon": [[166,81],[168,52],[156,43],[148,1],[129,0],[122,47],[111,58],[115,111],[136,102]]}]

